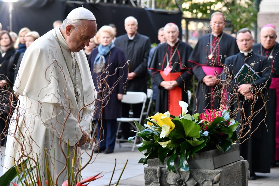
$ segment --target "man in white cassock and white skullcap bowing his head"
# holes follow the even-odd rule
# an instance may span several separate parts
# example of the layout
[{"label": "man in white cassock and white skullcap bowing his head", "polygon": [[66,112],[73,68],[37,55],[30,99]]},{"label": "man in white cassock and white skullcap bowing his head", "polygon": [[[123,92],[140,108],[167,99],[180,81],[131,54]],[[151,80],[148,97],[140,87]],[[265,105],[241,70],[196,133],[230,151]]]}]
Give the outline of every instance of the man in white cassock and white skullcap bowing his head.
[{"label": "man in white cassock and white skullcap bowing his head", "polygon": [[38,155],[44,180],[46,149],[49,170],[57,178],[55,184],[61,186],[68,179],[66,144],[69,140],[73,155],[91,132],[96,93],[82,49],[96,30],[94,15],[83,7],[76,8],[62,26],[26,50],[13,88],[18,105],[9,125],[4,172],[15,165],[14,160],[27,155],[36,160]]}]

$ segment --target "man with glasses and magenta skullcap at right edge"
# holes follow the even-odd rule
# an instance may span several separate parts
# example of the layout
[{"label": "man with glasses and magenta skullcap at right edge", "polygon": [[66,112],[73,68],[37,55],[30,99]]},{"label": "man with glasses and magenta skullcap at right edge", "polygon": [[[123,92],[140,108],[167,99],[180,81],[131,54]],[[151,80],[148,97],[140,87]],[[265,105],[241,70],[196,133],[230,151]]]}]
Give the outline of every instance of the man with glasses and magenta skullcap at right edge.
[{"label": "man with glasses and magenta skullcap at right edge", "polygon": [[267,57],[269,66],[272,67],[271,85],[266,96],[267,117],[266,123],[270,137],[271,163],[279,161],[279,44],[275,26],[265,25],[261,29],[261,43],[253,45],[253,51]]}]

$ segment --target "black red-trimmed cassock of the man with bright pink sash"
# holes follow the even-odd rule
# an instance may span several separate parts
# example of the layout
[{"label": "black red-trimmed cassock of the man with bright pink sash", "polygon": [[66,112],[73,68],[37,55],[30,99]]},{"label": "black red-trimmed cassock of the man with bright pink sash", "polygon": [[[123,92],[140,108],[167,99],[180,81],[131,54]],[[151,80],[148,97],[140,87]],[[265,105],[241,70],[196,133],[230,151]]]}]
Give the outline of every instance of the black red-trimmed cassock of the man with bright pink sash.
[{"label": "black red-trimmed cassock of the man with bright pink sash", "polygon": [[[189,61],[192,63],[193,67],[193,73],[198,79],[198,85],[196,88],[197,102],[194,100],[194,109],[197,107],[197,112],[199,113],[204,112],[204,109],[214,109],[218,107],[220,102],[218,97],[218,90],[220,87],[207,86],[202,82],[203,77],[206,75],[202,70],[202,66],[210,66],[212,60],[214,60],[216,56],[218,57],[217,60],[214,60],[214,66],[220,66],[220,64],[225,62],[227,57],[239,52],[236,39],[229,34],[224,33],[221,41],[219,40],[218,50],[215,50],[213,58],[209,59],[211,52],[209,38],[209,35],[202,36],[189,57]],[[218,36],[218,38],[220,38],[220,36]],[[218,41],[212,42],[213,48],[215,46],[214,44],[217,43]],[[218,52],[217,54],[216,51]]]}]

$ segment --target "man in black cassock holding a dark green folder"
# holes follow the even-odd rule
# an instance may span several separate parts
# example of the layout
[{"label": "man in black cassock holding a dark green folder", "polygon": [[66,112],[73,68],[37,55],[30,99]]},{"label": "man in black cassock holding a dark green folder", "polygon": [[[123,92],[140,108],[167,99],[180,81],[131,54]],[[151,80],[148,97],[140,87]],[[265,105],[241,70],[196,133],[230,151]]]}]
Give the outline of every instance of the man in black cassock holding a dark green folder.
[{"label": "man in black cassock holding a dark green folder", "polygon": [[[243,137],[239,140],[242,142],[240,155],[248,160],[250,176],[256,179],[255,172],[270,172],[270,148],[267,145],[268,133],[264,122],[266,117],[264,95],[270,84],[271,68],[268,67],[267,58],[251,50],[254,40],[249,31],[247,28],[238,31],[237,44],[240,53],[226,58],[227,68],[224,69],[226,78],[223,76],[225,80],[223,83],[229,81],[227,104],[230,105],[232,113],[237,111],[235,120],[240,123],[238,135],[241,134]],[[247,84],[241,84],[242,78],[240,75],[237,76],[237,73],[245,63],[260,77],[251,80],[251,76],[247,78],[249,74],[245,74]],[[242,73],[240,71],[240,74]]]}]

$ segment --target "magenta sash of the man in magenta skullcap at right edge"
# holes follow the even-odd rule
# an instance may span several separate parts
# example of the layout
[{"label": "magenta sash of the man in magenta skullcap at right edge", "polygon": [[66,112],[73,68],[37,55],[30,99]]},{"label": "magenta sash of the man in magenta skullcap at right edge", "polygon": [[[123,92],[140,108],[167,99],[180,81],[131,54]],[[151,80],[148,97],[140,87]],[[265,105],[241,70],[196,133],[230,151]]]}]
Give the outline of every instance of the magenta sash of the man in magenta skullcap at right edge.
[{"label": "magenta sash of the man in magenta skullcap at right edge", "polygon": [[[279,160],[279,77],[272,77],[270,87],[276,90],[276,113],[275,113],[275,160]],[[272,101],[272,100],[269,100]]]}]

